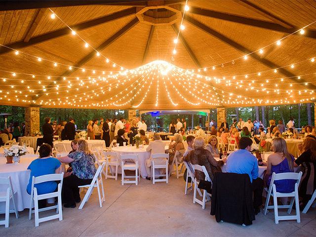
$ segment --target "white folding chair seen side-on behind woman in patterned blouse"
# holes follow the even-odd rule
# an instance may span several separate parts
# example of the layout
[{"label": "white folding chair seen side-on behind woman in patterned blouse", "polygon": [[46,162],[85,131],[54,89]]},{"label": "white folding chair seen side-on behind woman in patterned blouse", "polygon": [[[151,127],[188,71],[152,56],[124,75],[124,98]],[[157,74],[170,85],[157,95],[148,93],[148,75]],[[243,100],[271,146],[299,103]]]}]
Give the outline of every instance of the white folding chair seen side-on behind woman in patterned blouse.
[{"label": "white folding chair seen side-on behind woman in patterned blouse", "polygon": [[[78,186],[78,188],[88,188],[87,192],[85,193],[85,195],[80,203],[79,209],[82,209],[84,203],[89,200],[89,197],[91,196],[92,191],[95,187],[97,187],[97,189],[98,189],[99,204],[100,204],[100,207],[102,207],[102,202],[105,201],[105,196],[104,196],[101,170],[104,169],[104,166],[105,166],[105,163],[102,163],[98,167],[98,169],[97,169],[97,171],[96,171],[96,173],[91,181],[91,184]],[[101,197],[101,193],[100,193],[100,184],[101,184],[101,190],[102,190],[102,195],[103,195],[102,197]]]}]

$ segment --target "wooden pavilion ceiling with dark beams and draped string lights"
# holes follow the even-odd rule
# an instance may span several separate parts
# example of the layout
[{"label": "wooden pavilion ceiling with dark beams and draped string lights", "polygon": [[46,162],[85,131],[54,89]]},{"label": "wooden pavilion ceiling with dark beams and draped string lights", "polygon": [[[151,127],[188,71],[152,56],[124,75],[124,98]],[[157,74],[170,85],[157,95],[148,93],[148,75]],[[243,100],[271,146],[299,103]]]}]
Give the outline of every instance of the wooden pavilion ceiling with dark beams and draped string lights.
[{"label": "wooden pavilion ceiling with dark beams and draped string lights", "polygon": [[315,0],[189,0],[188,11],[185,3],[0,1],[0,104],[172,110],[314,101]]}]

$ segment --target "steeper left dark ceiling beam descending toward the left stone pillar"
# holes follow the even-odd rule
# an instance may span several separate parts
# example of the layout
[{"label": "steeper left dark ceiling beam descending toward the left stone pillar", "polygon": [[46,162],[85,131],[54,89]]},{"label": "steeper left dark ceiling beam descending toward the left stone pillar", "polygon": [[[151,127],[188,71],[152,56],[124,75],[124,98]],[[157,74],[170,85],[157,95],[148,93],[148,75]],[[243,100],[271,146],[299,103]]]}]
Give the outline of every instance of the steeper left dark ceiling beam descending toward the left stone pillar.
[{"label": "steeper left dark ceiling beam descending toward the left stone pillar", "polygon": [[[104,50],[106,47],[111,45],[114,41],[118,40],[121,36],[123,36],[127,31],[129,31],[131,28],[133,28],[135,25],[139,23],[138,18],[134,18],[132,21],[130,21],[127,25],[125,25],[123,28],[121,28],[117,33],[115,33],[113,36],[111,36],[108,40],[104,41],[102,44],[100,44],[97,48],[96,51],[101,52]],[[57,78],[55,81],[60,81],[64,77],[68,77],[74,72],[76,72],[80,67],[82,67],[85,63],[87,63],[89,60],[91,60],[93,57],[96,55],[96,51],[93,50],[91,51],[87,56],[82,58],[74,67],[73,70],[67,70],[65,73],[63,73],[59,78]],[[54,83],[50,83],[48,86],[46,86],[46,91],[45,92],[40,92],[37,93],[38,96],[33,96],[32,101],[39,100],[41,96],[45,95],[49,90],[55,88]]]}]

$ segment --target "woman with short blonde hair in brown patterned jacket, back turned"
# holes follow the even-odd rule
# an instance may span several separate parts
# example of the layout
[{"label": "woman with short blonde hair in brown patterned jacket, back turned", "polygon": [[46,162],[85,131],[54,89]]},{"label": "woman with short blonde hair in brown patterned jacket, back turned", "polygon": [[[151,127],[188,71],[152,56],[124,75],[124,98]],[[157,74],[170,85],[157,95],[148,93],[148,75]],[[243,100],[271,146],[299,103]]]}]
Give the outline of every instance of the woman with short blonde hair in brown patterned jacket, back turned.
[{"label": "woman with short blonde hair in brown patterned jacket, back turned", "polygon": [[[215,172],[219,170],[221,171],[220,167],[223,166],[227,158],[216,161],[212,154],[208,150],[204,149],[205,141],[202,137],[196,137],[194,139],[193,148],[194,150],[190,151],[183,160],[187,162],[191,161],[192,164],[198,164],[201,166],[204,165],[210,179],[213,181]],[[195,171],[195,177],[197,178],[197,181],[205,179],[204,173],[199,170]]]}]

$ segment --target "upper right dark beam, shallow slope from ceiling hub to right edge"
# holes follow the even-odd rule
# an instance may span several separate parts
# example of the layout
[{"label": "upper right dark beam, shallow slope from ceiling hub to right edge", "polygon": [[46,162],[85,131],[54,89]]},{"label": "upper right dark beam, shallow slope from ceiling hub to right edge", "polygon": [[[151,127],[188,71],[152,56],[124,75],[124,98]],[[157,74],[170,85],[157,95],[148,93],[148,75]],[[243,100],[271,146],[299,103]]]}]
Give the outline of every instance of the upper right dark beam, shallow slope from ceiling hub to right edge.
[{"label": "upper right dark beam, shallow slope from ceiling hub to right edge", "polygon": [[[272,23],[272,22],[261,21],[261,20],[246,18],[246,17],[242,17],[242,16],[235,16],[232,14],[197,8],[197,7],[193,7],[193,6],[190,7],[190,13],[201,15],[201,16],[212,17],[212,18],[216,18],[216,19],[220,19],[220,20],[224,20],[224,21],[240,23],[243,25],[254,26],[254,27],[258,27],[258,28],[262,28],[262,29],[266,29],[266,30],[282,32],[282,33],[286,33],[286,34],[292,34],[293,32],[301,29],[299,27],[292,27],[289,29],[289,28],[286,28],[284,26],[281,26],[279,24]],[[294,35],[316,39],[316,31],[313,31],[313,30],[305,29],[305,33],[303,35],[301,35],[300,32],[297,32]]]}]

